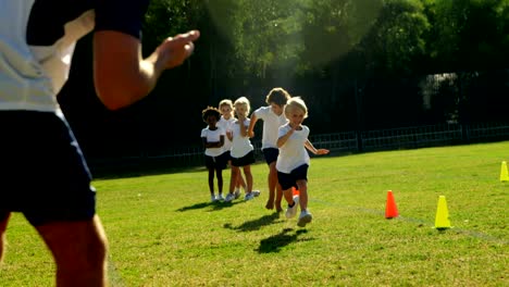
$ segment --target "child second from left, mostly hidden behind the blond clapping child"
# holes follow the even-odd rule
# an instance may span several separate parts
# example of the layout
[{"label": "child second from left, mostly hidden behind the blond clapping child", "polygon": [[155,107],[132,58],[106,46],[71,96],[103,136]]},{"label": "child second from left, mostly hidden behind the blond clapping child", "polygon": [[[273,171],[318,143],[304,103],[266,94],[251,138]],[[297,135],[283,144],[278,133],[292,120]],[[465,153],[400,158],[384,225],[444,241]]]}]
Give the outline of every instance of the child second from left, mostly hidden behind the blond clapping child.
[{"label": "child second from left, mostly hidden behind the blond clapping child", "polygon": [[[232,100],[224,99],[220,101],[219,110],[222,115],[221,115],[221,120],[218,122],[218,126],[221,126],[224,130],[226,130],[226,139],[224,140],[223,149],[225,150],[225,152],[227,152],[226,154],[226,158],[228,159],[227,163],[229,164],[229,166],[232,166],[232,155],[229,153],[232,149],[232,140],[229,140],[228,138],[228,134],[232,134],[232,126],[233,126],[233,123],[235,122],[234,107],[233,107]],[[232,174],[233,174],[233,170],[232,170]],[[241,173],[237,173],[237,174],[238,176],[237,176],[237,180],[235,182],[234,194],[238,198],[240,196],[240,188],[244,188],[244,190],[246,190],[246,182],[244,180]]]}]

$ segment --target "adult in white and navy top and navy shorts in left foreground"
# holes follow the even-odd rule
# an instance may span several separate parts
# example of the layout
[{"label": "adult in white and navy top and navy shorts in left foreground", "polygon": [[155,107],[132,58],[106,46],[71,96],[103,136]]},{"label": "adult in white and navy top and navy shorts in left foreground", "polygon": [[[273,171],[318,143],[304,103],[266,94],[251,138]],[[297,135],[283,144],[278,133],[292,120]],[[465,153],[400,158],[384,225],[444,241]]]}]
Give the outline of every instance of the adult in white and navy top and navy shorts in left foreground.
[{"label": "adult in white and navy top and navy shorts in left foreground", "polygon": [[145,98],[193,52],[199,32],[141,57],[149,0],[0,1],[0,261],[11,212],[37,229],[57,286],[108,285],[108,242],[80,148],[57,102],[76,41],[94,33],[97,96],[110,110]]}]

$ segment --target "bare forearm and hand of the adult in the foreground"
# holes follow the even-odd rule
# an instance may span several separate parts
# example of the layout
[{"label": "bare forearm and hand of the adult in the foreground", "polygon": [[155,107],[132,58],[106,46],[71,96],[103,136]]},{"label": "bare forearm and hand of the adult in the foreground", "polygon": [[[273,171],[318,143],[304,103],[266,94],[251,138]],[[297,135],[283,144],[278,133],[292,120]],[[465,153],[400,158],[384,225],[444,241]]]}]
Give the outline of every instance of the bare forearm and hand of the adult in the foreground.
[{"label": "bare forearm and hand of the adult in the foreground", "polygon": [[194,50],[198,30],[166,38],[148,58],[141,57],[140,40],[131,35],[99,30],[94,35],[94,82],[96,92],[110,110],[145,98],[162,72],[181,65]]}]

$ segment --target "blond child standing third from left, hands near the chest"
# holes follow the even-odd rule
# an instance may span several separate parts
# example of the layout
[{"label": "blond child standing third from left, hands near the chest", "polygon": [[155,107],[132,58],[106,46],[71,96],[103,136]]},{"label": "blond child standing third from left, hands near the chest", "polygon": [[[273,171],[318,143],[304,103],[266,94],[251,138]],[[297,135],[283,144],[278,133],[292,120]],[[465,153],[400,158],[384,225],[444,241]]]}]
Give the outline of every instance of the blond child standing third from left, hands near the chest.
[{"label": "blond child standing third from left, hands near the chest", "polygon": [[231,155],[232,155],[232,178],[229,179],[229,194],[226,196],[224,201],[229,202],[235,198],[239,197],[239,194],[235,195],[235,183],[240,173],[240,166],[244,170],[246,177],[247,188],[245,200],[251,200],[259,195],[259,191],[252,191],[252,174],[251,164],[254,163],[254,148],[248,137],[249,126],[249,110],[250,103],[246,97],[240,97],[234,102],[235,114],[237,120],[234,122],[232,133],[228,134],[229,140],[233,141]]}]

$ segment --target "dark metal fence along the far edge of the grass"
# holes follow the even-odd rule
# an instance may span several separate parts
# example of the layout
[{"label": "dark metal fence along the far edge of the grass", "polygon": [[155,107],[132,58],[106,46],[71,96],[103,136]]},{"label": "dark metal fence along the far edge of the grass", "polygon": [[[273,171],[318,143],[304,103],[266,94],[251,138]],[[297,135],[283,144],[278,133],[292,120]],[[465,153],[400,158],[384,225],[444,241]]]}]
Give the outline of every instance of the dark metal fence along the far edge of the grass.
[{"label": "dark metal fence along the far edge of the grass", "polygon": [[[344,132],[311,135],[316,148],[331,150],[333,154],[358,153],[380,150],[413,149],[436,146],[464,145],[509,140],[508,123],[443,124],[364,132]],[[256,158],[263,161],[261,142],[253,142]],[[202,147],[172,149],[164,154],[144,153],[121,159],[91,159],[92,171],[103,172],[132,169],[193,167],[203,165]]]}]

